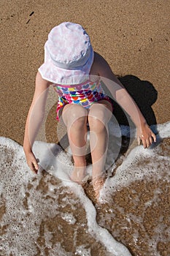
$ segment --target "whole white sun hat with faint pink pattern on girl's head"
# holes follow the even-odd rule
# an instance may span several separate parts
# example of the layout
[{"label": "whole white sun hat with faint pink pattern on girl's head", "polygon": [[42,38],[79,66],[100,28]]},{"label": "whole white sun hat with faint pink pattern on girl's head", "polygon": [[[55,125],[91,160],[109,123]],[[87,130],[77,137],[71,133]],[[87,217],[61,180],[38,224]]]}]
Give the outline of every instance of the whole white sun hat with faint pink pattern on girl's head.
[{"label": "whole white sun hat with faint pink pattern on girl's head", "polygon": [[90,37],[79,24],[64,22],[55,26],[45,43],[45,62],[39,67],[42,78],[61,85],[88,80],[93,64]]}]

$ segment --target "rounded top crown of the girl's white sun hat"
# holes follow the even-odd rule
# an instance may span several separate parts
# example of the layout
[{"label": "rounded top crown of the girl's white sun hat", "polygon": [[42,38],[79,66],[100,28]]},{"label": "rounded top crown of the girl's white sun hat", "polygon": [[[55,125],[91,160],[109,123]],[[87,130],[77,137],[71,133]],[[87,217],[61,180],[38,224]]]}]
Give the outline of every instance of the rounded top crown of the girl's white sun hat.
[{"label": "rounded top crown of the girl's white sun hat", "polygon": [[50,31],[45,47],[56,66],[74,68],[88,59],[90,37],[80,24],[64,22]]}]

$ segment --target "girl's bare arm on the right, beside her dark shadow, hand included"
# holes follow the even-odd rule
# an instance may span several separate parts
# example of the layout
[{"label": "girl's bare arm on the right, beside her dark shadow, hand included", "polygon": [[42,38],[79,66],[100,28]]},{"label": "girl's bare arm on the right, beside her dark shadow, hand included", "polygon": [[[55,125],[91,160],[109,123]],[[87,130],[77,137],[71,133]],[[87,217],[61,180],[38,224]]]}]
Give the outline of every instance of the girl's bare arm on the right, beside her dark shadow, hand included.
[{"label": "girl's bare arm on the right, beside her dark shadow, hand included", "polygon": [[147,125],[136,102],[134,102],[128,91],[125,90],[120,81],[115,77],[112,69],[103,57],[96,54],[95,62],[98,67],[98,75],[100,75],[117,103],[128,113],[136,125],[138,142],[140,143],[140,140],[142,140],[144,148],[148,148],[153,141],[156,141],[156,136]]}]

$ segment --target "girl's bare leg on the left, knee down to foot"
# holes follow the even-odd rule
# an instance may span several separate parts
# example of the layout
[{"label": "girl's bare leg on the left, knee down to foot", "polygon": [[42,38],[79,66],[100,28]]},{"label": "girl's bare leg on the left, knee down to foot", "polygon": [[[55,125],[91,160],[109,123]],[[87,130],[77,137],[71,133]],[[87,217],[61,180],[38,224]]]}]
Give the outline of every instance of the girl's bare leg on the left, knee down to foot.
[{"label": "girl's bare leg on the left, knee down to foot", "polygon": [[87,136],[88,112],[80,105],[68,104],[63,108],[62,119],[67,127],[69,145],[74,159],[71,178],[81,184],[85,177],[85,145]]}]

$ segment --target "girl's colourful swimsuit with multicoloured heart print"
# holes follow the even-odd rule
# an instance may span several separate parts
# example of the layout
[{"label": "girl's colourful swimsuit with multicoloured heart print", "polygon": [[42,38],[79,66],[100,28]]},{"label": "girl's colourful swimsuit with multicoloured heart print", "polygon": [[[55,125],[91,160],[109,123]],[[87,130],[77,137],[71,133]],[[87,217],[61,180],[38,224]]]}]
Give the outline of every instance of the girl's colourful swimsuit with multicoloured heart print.
[{"label": "girl's colourful swimsuit with multicoloured heart print", "polygon": [[90,108],[94,102],[98,102],[101,99],[106,99],[110,102],[109,97],[104,94],[104,89],[101,87],[99,79],[95,82],[88,80],[85,83],[74,86],[54,84],[53,87],[58,93],[57,120],[59,120],[58,111],[66,104],[72,103],[82,105],[84,108]]}]

